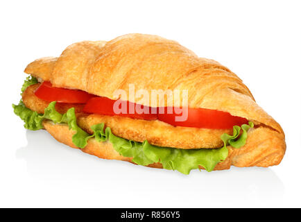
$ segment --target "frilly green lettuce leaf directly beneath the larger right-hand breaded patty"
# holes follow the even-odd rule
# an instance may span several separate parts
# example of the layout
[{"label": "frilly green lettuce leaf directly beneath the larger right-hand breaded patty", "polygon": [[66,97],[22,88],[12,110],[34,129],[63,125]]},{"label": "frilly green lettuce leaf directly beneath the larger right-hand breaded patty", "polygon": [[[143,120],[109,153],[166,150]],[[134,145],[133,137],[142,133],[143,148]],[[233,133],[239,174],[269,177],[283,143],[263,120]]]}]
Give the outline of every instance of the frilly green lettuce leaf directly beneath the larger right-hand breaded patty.
[{"label": "frilly green lettuce leaf directly beneath the larger right-hand breaded patty", "polygon": [[[92,126],[96,141],[110,141],[114,149],[125,157],[133,157],[132,161],[139,165],[148,165],[154,162],[160,162],[164,169],[173,169],[184,174],[189,174],[191,169],[198,169],[198,166],[204,167],[207,171],[212,171],[218,162],[227,158],[227,144],[235,144],[239,148],[246,144],[247,130],[253,127],[253,123],[244,124],[243,133],[239,137],[241,128],[233,127],[233,135],[222,135],[224,146],[221,148],[199,148],[199,149],[180,149],[170,147],[159,147],[149,144],[147,141],[143,143],[132,142],[112,134],[109,127],[105,128],[104,124],[96,124]],[[237,139],[239,137],[239,139]]]}]

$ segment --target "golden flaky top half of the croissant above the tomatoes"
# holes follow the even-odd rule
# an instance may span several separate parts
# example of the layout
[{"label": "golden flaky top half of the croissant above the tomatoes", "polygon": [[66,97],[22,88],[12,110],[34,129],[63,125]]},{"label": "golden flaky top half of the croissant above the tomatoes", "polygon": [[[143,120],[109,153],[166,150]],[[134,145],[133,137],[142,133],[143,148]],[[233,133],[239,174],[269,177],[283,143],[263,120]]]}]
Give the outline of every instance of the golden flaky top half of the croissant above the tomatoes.
[{"label": "golden flaky top half of the croissant above the tomatoes", "polygon": [[[49,80],[55,87],[82,89],[110,99],[117,99],[113,96],[116,89],[128,93],[129,84],[149,94],[151,89],[187,89],[189,108],[230,112],[283,134],[281,126],[257,105],[236,74],[214,60],[198,58],[178,42],[156,35],[128,34],[110,42],[78,42],[58,58],[31,62],[25,72]],[[174,103],[167,101],[164,105]]]}]

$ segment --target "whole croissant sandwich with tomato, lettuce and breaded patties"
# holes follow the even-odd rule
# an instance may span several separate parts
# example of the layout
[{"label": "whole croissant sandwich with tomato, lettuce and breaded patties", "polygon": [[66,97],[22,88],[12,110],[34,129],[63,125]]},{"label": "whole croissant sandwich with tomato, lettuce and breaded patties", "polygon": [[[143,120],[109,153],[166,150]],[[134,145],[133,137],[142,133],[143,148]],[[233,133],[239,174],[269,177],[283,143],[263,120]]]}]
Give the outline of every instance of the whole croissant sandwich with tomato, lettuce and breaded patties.
[{"label": "whole croissant sandwich with tomato, lettuce and breaded patties", "polygon": [[71,44],[25,69],[29,130],[107,160],[188,174],[279,164],[284,132],[242,80],[178,42],[129,34]]}]

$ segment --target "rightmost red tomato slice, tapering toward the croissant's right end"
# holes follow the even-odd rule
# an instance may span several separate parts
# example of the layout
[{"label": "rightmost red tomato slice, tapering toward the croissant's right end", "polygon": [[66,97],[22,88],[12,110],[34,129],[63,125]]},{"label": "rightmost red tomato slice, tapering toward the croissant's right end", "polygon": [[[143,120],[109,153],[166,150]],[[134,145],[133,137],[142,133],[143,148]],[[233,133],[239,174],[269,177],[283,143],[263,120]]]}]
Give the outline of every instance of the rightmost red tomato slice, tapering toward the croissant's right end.
[{"label": "rightmost red tomato slice, tapering toward the croissant's right end", "polygon": [[242,117],[234,117],[229,112],[223,112],[218,110],[209,109],[187,109],[186,121],[175,121],[175,117],[181,117],[182,113],[176,114],[175,111],[179,109],[173,109],[172,114],[168,114],[168,108],[164,108],[164,114],[158,114],[158,119],[169,123],[173,126],[195,127],[195,128],[212,128],[212,129],[228,129],[233,126],[241,126],[248,123],[247,119]]}]

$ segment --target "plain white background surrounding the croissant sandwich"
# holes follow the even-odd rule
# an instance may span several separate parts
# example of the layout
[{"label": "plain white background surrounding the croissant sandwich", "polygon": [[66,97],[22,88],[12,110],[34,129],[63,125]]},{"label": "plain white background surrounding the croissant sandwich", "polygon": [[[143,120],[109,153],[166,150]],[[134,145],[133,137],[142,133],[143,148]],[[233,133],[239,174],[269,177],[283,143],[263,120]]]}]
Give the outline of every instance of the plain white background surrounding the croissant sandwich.
[{"label": "plain white background surrounding the croissant sandwich", "polygon": [[[301,207],[300,1],[1,1],[0,207]],[[71,43],[161,35],[229,67],[284,128],[279,166],[189,176],[101,160],[23,128],[29,62]]]}]

